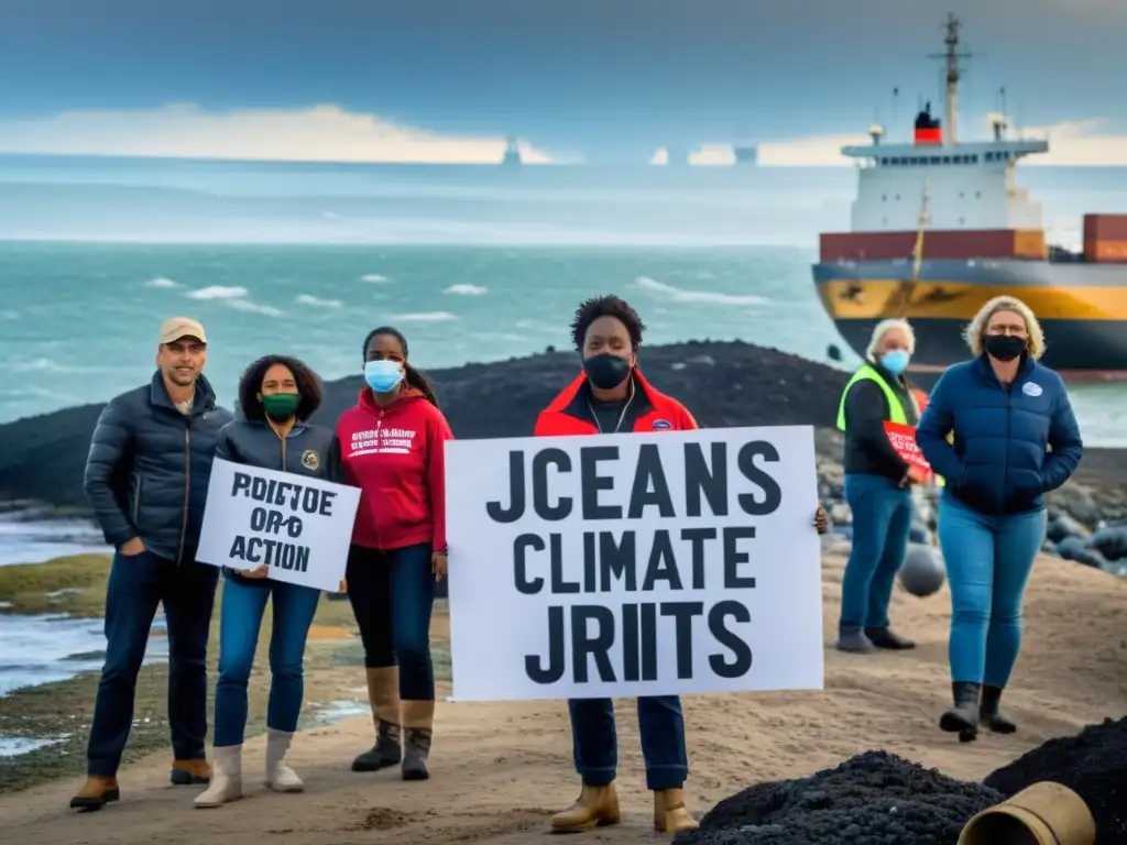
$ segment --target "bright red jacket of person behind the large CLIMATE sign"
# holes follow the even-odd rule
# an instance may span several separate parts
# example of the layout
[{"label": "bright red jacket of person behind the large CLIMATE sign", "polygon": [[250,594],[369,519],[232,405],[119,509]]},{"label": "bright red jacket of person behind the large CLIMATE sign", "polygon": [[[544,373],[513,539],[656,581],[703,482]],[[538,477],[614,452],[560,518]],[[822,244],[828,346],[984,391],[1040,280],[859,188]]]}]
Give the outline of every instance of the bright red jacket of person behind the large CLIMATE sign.
[{"label": "bright red jacket of person behind the large CLIMATE sign", "polygon": [[[622,432],[686,432],[696,428],[693,415],[676,399],[659,392],[636,368],[635,398],[622,419]],[[536,417],[536,437],[571,434],[598,434],[598,426],[587,403],[587,374],[568,384]]]}]

